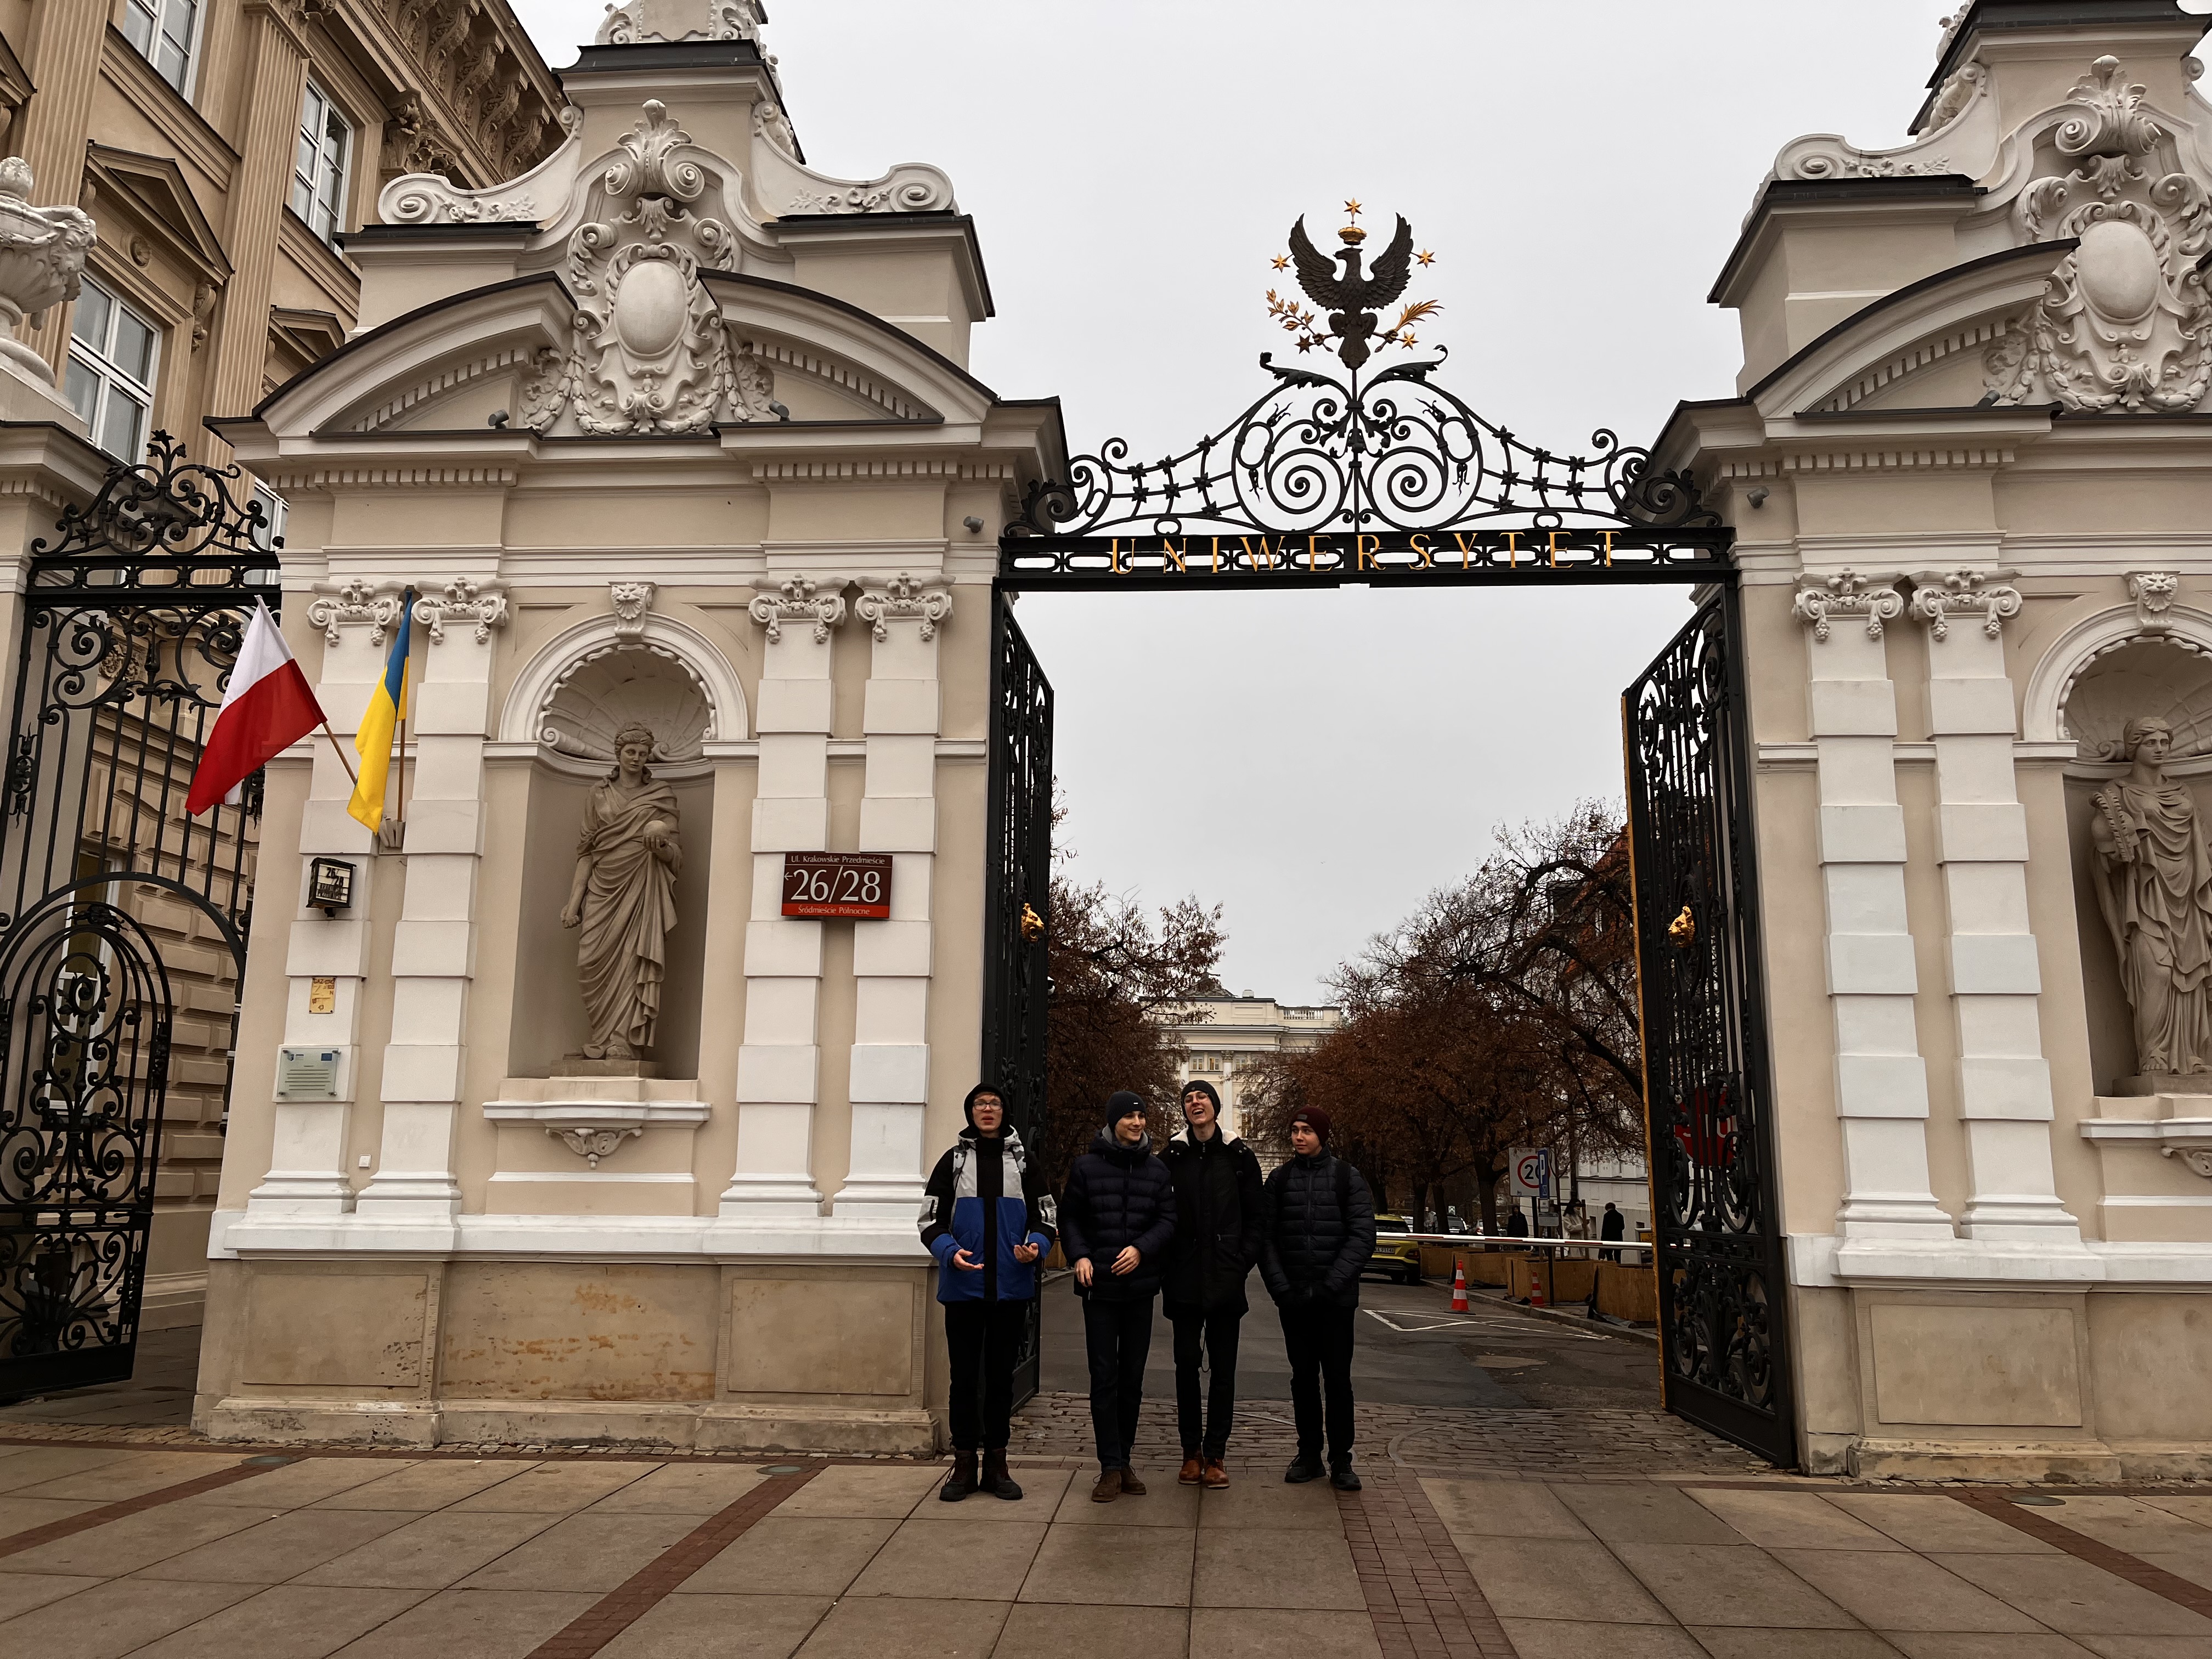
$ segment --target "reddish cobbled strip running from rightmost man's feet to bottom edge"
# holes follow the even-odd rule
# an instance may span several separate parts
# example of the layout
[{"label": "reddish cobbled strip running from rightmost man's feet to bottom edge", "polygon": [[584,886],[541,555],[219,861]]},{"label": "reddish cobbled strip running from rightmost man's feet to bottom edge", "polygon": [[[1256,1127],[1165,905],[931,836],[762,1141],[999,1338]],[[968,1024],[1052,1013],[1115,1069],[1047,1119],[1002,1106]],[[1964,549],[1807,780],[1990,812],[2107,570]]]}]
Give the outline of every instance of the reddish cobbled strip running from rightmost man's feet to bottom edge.
[{"label": "reddish cobbled strip running from rightmost man's feet to bottom edge", "polygon": [[1360,1480],[1336,1511],[1383,1659],[1520,1659],[1420,1480],[1376,1467]]}]

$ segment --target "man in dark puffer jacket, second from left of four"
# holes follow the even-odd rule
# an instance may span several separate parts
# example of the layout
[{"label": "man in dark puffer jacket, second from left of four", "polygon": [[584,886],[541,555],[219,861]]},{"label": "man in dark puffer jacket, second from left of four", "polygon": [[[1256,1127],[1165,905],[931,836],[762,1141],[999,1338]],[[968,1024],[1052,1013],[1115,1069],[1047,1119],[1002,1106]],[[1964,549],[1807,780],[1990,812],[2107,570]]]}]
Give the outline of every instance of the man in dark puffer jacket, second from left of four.
[{"label": "man in dark puffer jacket, second from left of four", "polygon": [[1106,1102],[1106,1128],[1075,1159],[1060,1201],[1060,1239],[1084,1298],[1091,1356],[1091,1433],[1099,1480],[1091,1502],[1144,1495],[1128,1467],[1144,1405],[1144,1358],[1152,1349],[1152,1296],[1175,1237],[1175,1186],[1152,1157],[1144,1099],[1126,1088]]}]

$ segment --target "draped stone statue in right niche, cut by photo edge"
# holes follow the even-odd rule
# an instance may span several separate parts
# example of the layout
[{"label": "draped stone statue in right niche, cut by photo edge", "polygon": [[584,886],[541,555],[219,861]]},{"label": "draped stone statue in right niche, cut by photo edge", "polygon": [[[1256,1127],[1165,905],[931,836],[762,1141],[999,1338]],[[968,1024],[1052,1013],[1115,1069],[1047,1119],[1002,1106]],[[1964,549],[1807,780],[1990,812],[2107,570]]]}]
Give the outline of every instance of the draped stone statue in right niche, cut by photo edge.
[{"label": "draped stone statue in right niche, cut by photo edge", "polygon": [[2212,841],[2185,783],[2166,776],[2174,728],[2128,721],[2128,774],[2097,792],[2088,834],[2097,907],[2135,1011],[2141,1077],[2201,1077],[2212,1093]]}]

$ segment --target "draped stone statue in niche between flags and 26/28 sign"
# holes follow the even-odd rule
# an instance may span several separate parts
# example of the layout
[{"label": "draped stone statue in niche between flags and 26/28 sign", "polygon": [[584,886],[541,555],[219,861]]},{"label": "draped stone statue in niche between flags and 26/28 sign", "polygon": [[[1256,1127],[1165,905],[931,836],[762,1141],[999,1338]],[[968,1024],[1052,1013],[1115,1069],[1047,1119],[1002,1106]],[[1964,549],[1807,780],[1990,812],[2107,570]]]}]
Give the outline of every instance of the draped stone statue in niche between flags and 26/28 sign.
[{"label": "draped stone statue in niche between flags and 26/28 sign", "polygon": [[591,785],[575,883],[560,914],[562,927],[584,929],[575,967],[591,1018],[586,1060],[641,1060],[661,1018],[684,847],[677,792],[648,768],[653,745],[646,726],[615,732],[615,770]]}]

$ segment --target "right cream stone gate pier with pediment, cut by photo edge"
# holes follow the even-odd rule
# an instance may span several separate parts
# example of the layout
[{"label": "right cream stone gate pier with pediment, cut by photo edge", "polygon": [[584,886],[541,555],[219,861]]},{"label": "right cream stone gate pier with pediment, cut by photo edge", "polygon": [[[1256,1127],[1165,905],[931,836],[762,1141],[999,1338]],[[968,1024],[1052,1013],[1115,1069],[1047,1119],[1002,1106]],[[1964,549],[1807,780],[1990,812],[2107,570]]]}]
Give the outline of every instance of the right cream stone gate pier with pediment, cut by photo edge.
[{"label": "right cream stone gate pier with pediment, cut by photo edge", "polygon": [[1980,0],[1785,146],[1657,453],[1736,529],[1798,1447],[2205,1473],[2212,106],[2170,0]]}]

